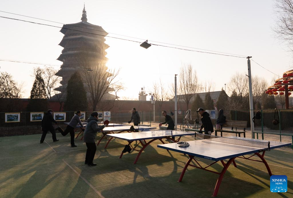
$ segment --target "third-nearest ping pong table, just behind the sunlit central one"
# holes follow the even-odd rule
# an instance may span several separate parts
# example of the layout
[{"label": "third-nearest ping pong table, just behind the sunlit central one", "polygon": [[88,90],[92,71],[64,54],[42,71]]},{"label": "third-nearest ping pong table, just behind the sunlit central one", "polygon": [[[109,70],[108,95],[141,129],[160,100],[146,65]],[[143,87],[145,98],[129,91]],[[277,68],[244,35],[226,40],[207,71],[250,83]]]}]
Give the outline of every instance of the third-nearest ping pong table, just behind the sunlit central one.
[{"label": "third-nearest ping pong table, just behind the sunlit central one", "polygon": [[[132,131],[130,129],[130,127],[131,127],[130,125],[118,126],[118,127],[106,127],[103,129],[103,132],[107,132],[108,134],[119,134],[119,133],[123,133],[123,132],[128,132],[128,133],[135,132],[135,131]],[[136,130],[136,132],[149,131],[150,129],[156,129],[156,127],[134,126],[134,130]],[[98,141],[97,146],[100,144],[101,140],[103,138],[105,138],[108,140],[107,144],[105,145],[105,149],[107,148],[110,141],[114,138],[114,137],[110,137],[110,139],[108,139],[107,137],[105,137],[105,135],[108,135],[108,134],[103,134],[103,136]]]}]

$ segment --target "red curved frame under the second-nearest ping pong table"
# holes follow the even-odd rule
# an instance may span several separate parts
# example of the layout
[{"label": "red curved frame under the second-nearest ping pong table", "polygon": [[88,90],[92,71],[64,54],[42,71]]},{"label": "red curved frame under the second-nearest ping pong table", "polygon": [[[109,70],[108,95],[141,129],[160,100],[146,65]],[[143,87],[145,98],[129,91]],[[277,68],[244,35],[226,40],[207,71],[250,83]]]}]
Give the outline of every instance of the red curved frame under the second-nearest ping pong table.
[{"label": "red curved frame under the second-nearest ping pong table", "polygon": [[[179,136],[178,139],[175,139],[175,137],[172,137],[172,136],[165,136],[165,137],[160,137],[160,138],[154,138],[154,139],[147,139],[147,140],[150,140],[150,141],[146,141],[145,139],[142,139],[142,140],[137,140],[139,141],[139,143],[136,145],[136,146],[132,146],[131,143],[134,142],[135,140],[133,141],[128,141],[128,145],[132,148],[131,151],[138,151],[138,154],[133,162],[133,164],[136,164],[137,163],[137,160],[140,156],[140,154],[142,153],[142,151],[147,147],[149,146],[149,144],[151,144],[153,141],[155,140],[160,140],[163,144],[168,144],[166,142],[164,142],[162,139],[167,139],[167,140],[172,140],[173,142],[178,142],[180,139],[181,139],[182,136]],[[170,142],[169,142],[170,143]],[[137,146],[141,144],[142,145],[142,148],[141,149],[137,149]],[[168,151],[168,150],[167,150]],[[121,155],[119,158],[122,158],[123,156],[123,153],[121,152]]]}]

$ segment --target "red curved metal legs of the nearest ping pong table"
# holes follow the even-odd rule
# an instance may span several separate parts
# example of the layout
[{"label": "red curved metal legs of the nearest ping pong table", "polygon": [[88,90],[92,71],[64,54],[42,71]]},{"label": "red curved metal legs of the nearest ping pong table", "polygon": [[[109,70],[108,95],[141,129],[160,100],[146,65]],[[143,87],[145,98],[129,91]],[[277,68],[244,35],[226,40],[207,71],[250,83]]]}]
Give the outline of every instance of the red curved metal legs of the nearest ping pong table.
[{"label": "red curved metal legs of the nearest ping pong table", "polygon": [[[263,153],[260,154],[261,152],[263,152]],[[208,165],[208,166],[206,166],[206,167],[203,167],[202,165],[200,165],[200,163],[198,163],[198,161],[197,161],[196,159],[194,159],[195,156],[191,156],[191,155],[188,155],[188,156],[189,156],[189,160],[188,160],[187,163],[185,164],[185,166],[184,166],[184,168],[183,168],[183,170],[182,170],[182,172],[181,172],[181,175],[180,175],[180,177],[179,177],[178,182],[181,182],[181,181],[182,181],[183,176],[184,176],[184,173],[185,173],[185,171],[186,171],[186,169],[187,169],[188,166],[192,166],[192,167],[195,167],[195,168],[200,168],[200,169],[202,169],[202,170],[206,170],[206,171],[209,171],[209,172],[212,172],[212,173],[219,174],[219,178],[218,178],[218,180],[217,180],[217,183],[216,183],[216,186],[215,186],[214,193],[213,193],[212,197],[217,197],[217,194],[218,194],[218,191],[219,191],[219,187],[220,187],[220,185],[221,185],[222,179],[223,179],[224,174],[225,174],[226,170],[228,169],[229,165],[230,165],[231,163],[233,163],[234,166],[237,168],[237,165],[236,165],[236,163],[235,163],[235,161],[234,161],[235,158],[237,158],[237,157],[230,158],[230,159],[228,160],[227,163],[225,163],[223,160],[220,160],[221,163],[222,163],[222,165],[224,166],[224,168],[222,169],[221,173],[219,173],[219,172],[216,172],[216,171],[208,170],[208,169],[207,169],[208,167],[210,167],[211,165],[217,163],[218,161],[215,161],[215,162],[211,163],[210,165]],[[261,161],[260,161],[260,160],[254,160],[254,159],[251,159],[251,157],[253,157],[253,156],[258,156],[258,157],[261,159]],[[259,151],[259,152],[254,153],[253,155],[251,155],[251,156],[249,156],[249,157],[245,157],[245,156],[241,156],[241,157],[240,157],[240,156],[238,156],[238,158],[243,158],[243,159],[247,159],[247,160],[252,160],[252,161],[257,161],[257,162],[262,162],[262,163],[264,163],[264,164],[265,164],[265,167],[266,167],[267,170],[268,170],[269,175],[272,176],[272,172],[271,172],[271,170],[270,170],[270,167],[269,167],[268,163],[265,161],[264,156],[265,156],[265,151]],[[198,164],[198,166],[197,166],[197,165],[192,165],[192,164],[190,164],[190,162],[191,162],[192,160],[194,160],[194,161]]]}]

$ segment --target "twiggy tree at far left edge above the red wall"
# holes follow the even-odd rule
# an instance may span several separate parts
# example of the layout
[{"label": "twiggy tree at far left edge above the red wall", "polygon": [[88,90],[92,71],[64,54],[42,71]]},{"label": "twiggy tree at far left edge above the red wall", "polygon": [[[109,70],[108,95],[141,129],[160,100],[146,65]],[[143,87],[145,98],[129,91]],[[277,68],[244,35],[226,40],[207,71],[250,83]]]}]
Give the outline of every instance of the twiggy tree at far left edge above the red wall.
[{"label": "twiggy tree at far left edge above the red wall", "polygon": [[11,74],[0,72],[0,98],[21,98],[23,83],[16,83]]}]

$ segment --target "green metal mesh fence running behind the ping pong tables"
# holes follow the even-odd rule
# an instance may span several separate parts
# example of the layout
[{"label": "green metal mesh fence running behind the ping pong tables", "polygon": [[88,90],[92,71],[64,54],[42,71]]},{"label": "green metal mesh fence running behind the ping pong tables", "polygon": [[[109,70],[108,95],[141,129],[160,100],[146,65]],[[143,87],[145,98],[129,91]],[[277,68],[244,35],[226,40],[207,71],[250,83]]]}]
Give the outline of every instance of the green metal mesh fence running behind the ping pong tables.
[{"label": "green metal mesh fence running behind the ping pong tables", "polygon": [[[168,115],[175,119],[174,110],[166,110]],[[161,114],[162,111],[138,111],[141,119],[141,124],[152,124],[164,122],[165,118]],[[217,112],[217,111],[216,111]],[[257,110],[254,111],[254,114]],[[130,120],[131,111],[111,111],[111,123],[126,123]],[[291,134],[293,131],[293,110],[278,110],[280,123],[278,125],[272,124],[275,110],[260,110],[261,119],[255,120],[255,132],[270,132],[270,133],[284,133]],[[90,116],[91,112],[86,112],[85,118]],[[200,119],[195,110],[191,111],[192,119]],[[177,111],[177,124],[183,123],[186,115],[186,110]],[[226,120],[241,120],[247,121],[248,128],[250,128],[250,113],[249,110],[224,110]],[[64,122],[69,122],[74,116],[74,112],[66,112],[65,121],[57,121],[58,125],[65,127]],[[217,119],[216,113],[216,119]],[[213,124],[216,124],[216,119],[212,119]],[[30,121],[30,112],[20,112],[20,122],[5,122],[5,113],[0,112],[0,136],[8,135],[24,135],[40,133],[41,122]],[[248,129],[249,130],[249,129]],[[279,139],[280,140],[280,139]]]}]

